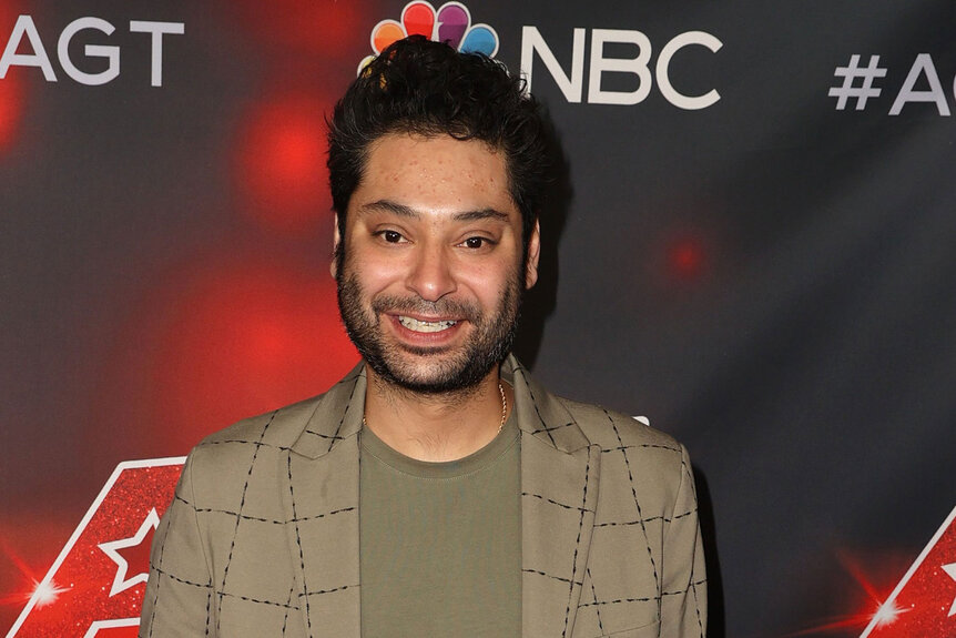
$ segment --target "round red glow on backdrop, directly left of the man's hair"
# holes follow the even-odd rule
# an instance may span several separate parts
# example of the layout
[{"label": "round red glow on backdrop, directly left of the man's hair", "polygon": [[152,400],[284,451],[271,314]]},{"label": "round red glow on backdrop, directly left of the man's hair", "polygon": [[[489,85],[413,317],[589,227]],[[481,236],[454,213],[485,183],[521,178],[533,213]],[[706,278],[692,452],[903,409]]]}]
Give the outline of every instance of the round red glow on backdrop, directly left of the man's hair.
[{"label": "round red glow on backdrop, directly left of the man's hair", "polygon": [[269,229],[303,233],[330,220],[324,113],[322,101],[295,97],[263,104],[250,118],[238,188],[247,210]]}]

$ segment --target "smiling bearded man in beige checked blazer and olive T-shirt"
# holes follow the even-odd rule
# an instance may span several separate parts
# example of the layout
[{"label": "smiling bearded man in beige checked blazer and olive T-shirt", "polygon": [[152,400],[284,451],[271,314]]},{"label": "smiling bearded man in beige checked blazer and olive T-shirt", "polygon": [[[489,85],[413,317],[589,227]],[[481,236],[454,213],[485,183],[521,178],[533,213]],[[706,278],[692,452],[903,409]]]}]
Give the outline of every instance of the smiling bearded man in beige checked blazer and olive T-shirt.
[{"label": "smiling bearded man in beige checked blazer and olive T-shirt", "polygon": [[522,83],[397,42],[336,107],[328,165],[364,362],[192,452],[141,636],[704,636],[683,447],[509,355],[545,186]]}]

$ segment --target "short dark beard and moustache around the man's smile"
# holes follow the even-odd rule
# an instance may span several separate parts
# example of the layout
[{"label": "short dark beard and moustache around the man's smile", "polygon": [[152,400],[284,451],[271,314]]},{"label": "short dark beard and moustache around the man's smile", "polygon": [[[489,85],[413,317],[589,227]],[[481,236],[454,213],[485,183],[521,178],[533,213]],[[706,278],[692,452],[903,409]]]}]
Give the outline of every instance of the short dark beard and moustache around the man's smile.
[{"label": "short dark beard and moustache around the man's smile", "polygon": [[[347,262],[347,260],[342,260]],[[338,310],[348,337],[372,369],[386,383],[421,394],[441,394],[475,388],[511,352],[518,330],[521,283],[517,272],[508,277],[500,302],[491,314],[477,303],[440,298],[429,302],[417,295],[366,297],[358,277],[337,270]],[[471,333],[456,348],[414,347],[388,343],[382,330],[386,313],[454,316],[471,324]],[[409,358],[418,359],[416,362]]]}]

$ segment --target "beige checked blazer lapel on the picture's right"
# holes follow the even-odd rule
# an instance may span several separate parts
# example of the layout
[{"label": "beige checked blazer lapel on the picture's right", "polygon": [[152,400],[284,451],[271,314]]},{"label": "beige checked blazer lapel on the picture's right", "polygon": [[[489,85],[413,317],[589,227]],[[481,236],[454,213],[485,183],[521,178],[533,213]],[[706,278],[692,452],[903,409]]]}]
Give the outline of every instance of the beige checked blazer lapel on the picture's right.
[{"label": "beige checked blazer lapel on the picture's right", "polygon": [[509,357],[521,428],[525,638],[571,636],[594,525],[600,453],[570,413]]}]

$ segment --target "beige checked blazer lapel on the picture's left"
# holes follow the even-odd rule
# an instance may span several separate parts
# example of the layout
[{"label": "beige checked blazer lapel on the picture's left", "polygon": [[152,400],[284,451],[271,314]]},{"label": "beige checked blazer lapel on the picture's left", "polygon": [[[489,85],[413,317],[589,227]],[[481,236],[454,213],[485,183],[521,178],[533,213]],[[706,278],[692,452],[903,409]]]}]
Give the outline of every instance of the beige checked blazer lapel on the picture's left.
[{"label": "beige checked blazer lapel on the picture's left", "polygon": [[319,401],[277,468],[295,595],[305,635],[360,637],[358,436],[365,405],[359,364]]}]

